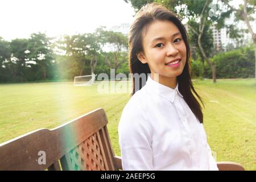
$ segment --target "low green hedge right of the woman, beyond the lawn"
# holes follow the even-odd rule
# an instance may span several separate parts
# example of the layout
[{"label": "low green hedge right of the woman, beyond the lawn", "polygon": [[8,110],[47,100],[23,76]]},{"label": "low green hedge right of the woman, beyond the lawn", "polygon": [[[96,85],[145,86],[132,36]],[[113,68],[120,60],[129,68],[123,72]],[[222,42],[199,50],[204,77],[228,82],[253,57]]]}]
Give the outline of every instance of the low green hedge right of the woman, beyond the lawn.
[{"label": "low green hedge right of the woman, beyond the lawn", "polygon": [[[248,46],[220,53],[210,59],[216,64],[217,78],[249,78],[255,76],[254,46]],[[205,61],[205,72],[201,74],[202,63],[192,60],[192,76],[212,78],[212,70]]]}]

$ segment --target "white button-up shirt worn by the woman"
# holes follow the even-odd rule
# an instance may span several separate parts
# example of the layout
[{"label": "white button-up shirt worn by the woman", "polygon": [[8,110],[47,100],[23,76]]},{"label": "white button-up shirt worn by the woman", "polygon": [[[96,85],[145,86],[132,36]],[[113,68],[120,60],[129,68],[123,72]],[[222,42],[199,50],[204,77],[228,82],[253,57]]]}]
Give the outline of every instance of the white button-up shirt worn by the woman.
[{"label": "white button-up shirt worn by the woman", "polygon": [[123,170],[218,170],[204,126],[178,90],[148,76],[118,126]]}]

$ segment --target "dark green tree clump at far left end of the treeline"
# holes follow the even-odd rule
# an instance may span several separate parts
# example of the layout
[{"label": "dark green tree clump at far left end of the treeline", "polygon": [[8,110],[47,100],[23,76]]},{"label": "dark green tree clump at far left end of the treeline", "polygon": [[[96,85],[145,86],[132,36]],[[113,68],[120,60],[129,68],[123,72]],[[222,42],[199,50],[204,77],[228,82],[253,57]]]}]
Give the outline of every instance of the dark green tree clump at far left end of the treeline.
[{"label": "dark green tree clump at far left end of the treeline", "polygon": [[0,39],[0,82],[51,80],[54,78],[53,52],[45,34],[29,39]]}]

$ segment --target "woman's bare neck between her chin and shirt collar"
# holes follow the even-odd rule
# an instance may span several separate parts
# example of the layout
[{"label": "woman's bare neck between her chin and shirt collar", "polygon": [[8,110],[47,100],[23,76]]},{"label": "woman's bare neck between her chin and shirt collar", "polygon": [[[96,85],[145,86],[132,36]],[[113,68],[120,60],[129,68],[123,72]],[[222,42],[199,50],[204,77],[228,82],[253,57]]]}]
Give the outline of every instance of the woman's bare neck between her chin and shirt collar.
[{"label": "woman's bare neck between her chin and shirt collar", "polygon": [[175,89],[177,85],[177,77],[166,77],[166,76],[161,76],[157,73],[151,73],[151,78],[152,80],[159,82],[159,84],[168,86],[172,89]]}]

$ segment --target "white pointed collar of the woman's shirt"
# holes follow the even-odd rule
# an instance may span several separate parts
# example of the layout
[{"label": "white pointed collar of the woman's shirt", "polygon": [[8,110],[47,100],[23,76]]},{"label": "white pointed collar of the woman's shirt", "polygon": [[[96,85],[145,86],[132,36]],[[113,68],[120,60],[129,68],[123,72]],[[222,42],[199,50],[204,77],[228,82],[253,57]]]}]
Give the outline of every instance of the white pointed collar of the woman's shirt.
[{"label": "white pointed collar of the woman's shirt", "polygon": [[181,97],[181,93],[179,92],[179,83],[177,82],[175,89],[172,89],[168,86],[159,84],[159,82],[156,82],[151,78],[149,75],[146,82],[147,91],[152,93],[156,93],[159,96],[166,98],[168,101],[174,102],[175,96],[179,94]]}]

